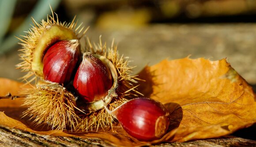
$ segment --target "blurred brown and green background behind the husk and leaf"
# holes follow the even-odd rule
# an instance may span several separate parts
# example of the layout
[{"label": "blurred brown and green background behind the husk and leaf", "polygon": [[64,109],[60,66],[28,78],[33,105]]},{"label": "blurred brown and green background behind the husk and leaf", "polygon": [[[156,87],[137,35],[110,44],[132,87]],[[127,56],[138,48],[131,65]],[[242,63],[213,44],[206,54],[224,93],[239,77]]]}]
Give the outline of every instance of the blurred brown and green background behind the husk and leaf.
[{"label": "blurred brown and green background behind the husk and leaf", "polygon": [[[227,57],[254,90],[256,87],[256,0],[0,0],[0,77],[19,79],[19,40],[37,22],[51,15],[61,22],[90,26],[87,36],[130,57],[139,72],[163,59]],[[256,140],[256,126],[234,135]]]}]

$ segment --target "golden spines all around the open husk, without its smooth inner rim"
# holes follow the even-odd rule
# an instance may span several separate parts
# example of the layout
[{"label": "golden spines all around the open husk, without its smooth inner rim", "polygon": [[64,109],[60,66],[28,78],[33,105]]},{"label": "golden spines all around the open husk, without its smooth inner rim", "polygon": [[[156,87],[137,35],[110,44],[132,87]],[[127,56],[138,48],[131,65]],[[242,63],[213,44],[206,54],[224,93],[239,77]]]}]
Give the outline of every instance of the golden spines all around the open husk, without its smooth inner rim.
[{"label": "golden spines all around the open husk, without its smooth inner rim", "polygon": [[[45,29],[50,28],[52,25],[60,26],[72,30],[75,33],[75,36],[78,36],[78,34],[83,31],[83,27],[80,29],[81,25],[76,27],[77,22],[75,22],[75,18],[71,23],[61,23],[59,22],[57,15],[55,19],[53,14],[47,18],[47,21],[42,20],[41,24],[35,22],[34,19],[33,23],[34,26],[26,32],[26,36],[21,36],[23,39],[20,39],[20,44],[23,48],[20,50],[22,53],[19,56],[21,57],[22,62],[16,65],[17,68],[22,69],[23,72],[27,72],[27,74],[22,77],[27,83],[30,83],[33,80],[36,80],[36,83],[38,83],[37,77],[41,77],[37,71],[32,69],[34,67],[32,63],[34,61],[33,58],[36,57],[35,49],[37,48],[38,43],[40,43],[39,41],[42,34],[45,33]],[[84,36],[86,31],[87,29],[83,32],[82,36]],[[77,37],[77,39],[80,39],[81,37]],[[84,51],[105,56],[117,68],[118,90],[116,92],[118,97],[114,98],[110,104],[108,104],[107,107],[110,110],[123,104],[126,99],[142,95],[136,91],[137,86],[135,85],[137,80],[139,80],[136,78],[137,75],[131,74],[132,68],[134,67],[128,65],[128,58],[119,56],[117,47],[114,46],[114,43],[107,49],[106,44],[102,46],[102,41],[100,39],[100,43],[98,45],[94,44],[94,47],[92,47],[89,39],[87,39]],[[40,52],[40,55],[43,56],[43,52]],[[79,108],[76,108],[75,106],[74,95],[58,84],[48,85],[45,83],[38,83],[37,87],[24,90],[23,93],[27,95],[24,104],[29,106],[28,110],[23,114],[24,116],[29,116],[30,119],[33,119],[33,122],[37,125],[46,124],[52,127],[52,129],[60,130],[71,128],[71,131],[95,131],[98,130],[99,127],[112,127],[115,120],[115,118],[112,115],[109,115],[104,108],[86,115],[79,112]]]}]

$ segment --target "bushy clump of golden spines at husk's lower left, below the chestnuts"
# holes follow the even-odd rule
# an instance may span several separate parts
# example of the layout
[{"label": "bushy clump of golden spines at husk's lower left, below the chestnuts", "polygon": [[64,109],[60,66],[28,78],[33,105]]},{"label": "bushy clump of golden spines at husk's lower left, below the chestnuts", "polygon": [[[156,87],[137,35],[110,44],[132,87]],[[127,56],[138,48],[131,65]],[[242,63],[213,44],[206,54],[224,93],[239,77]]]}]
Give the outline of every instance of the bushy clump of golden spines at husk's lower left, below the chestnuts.
[{"label": "bushy clump of golden spines at husk's lower left, below the chestnuts", "polygon": [[23,117],[29,116],[35,125],[46,124],[52,129],[73,130],[80,119],[75,106],[76,97],[57,83],[40,84],[22,91],[26,94],[23,105],[29,106]]}]

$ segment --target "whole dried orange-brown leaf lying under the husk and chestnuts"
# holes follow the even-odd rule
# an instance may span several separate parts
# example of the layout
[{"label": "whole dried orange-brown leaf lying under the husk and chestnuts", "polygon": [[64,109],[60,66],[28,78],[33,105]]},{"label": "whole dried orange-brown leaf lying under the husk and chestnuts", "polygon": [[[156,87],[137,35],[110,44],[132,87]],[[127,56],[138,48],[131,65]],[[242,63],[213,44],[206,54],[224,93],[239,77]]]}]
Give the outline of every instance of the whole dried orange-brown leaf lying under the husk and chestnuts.
[{"label": "whole dried orange-brown leaf lying under the husk and chestnuts", "polygon": [[[47,130],[21,118],[23,99],[0,100],[0,125],[54,136],[79,136],[104,140],[116,146],[143,146],[162,141],[187,141],[230,134],[256,122],[256,102],[252,88],[225,59],[203,58],[164,60],[147,66],[139,76],[140,92],[166,104],[171,113],[169,133],[160,140],[140,142],[114,126],[114,131],[67,133]],[[0,96],[17,94],[22,84],[0,78]]]}]

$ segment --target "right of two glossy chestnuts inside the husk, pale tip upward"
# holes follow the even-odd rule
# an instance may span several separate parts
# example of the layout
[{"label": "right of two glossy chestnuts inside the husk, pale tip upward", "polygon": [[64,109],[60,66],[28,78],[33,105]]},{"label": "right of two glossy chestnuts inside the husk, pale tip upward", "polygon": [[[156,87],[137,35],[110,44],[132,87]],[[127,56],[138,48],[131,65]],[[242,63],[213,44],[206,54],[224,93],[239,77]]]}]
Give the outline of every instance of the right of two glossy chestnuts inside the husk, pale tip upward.
[{"label": "right of two glossy chestnuts inside the husk, pale tip upward", "polygon": [[86,102],[102,100],[112,85],[109,68],[91,53],[84,53],[73,82],[77,95]]}]

